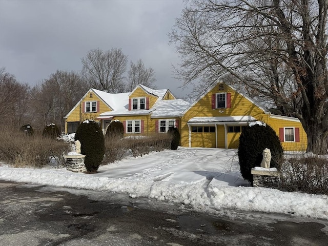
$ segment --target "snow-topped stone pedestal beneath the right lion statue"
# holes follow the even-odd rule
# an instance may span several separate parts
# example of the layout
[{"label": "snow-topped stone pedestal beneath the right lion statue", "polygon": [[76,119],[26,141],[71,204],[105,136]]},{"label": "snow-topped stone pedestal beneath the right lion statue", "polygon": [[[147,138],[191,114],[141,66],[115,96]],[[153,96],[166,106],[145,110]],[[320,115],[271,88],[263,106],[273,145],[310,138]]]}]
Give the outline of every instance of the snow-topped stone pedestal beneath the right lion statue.
[{"label": "snow-topped stone pedestal beneath the right lion statue", "polygon": [[252,168],[253,186],[278,188],[280,182],[280,172],[276,168]]}]

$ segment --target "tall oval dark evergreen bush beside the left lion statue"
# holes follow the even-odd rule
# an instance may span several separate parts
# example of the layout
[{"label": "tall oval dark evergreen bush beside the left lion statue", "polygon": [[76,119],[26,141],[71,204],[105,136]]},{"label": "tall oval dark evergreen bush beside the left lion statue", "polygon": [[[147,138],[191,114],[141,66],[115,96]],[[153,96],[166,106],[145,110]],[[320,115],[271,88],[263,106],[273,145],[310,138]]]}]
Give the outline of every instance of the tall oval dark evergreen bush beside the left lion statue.
[{"label": "tall oval dark evergreen bush beside the left lion statue", "polygon": [[81,154],[86,155],[87,171],[96,173],[105,154],[105,138],[98,123],[94,120],[85,120],[76,129],[74,140],[81,142]]}]

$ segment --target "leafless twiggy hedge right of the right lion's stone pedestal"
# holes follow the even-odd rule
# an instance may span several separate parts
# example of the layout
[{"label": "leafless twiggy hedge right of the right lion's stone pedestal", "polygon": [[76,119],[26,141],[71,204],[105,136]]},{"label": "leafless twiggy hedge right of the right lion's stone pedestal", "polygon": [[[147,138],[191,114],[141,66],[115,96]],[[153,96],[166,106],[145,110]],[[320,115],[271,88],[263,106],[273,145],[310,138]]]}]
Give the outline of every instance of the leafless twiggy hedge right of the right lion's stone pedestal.
[{"label": "leafless twiggy hedge right of the right lion's stone pedestal", "polygon": [[325,157],[289,158],[281,172],[284,190],[328,195],[328,159]]}]

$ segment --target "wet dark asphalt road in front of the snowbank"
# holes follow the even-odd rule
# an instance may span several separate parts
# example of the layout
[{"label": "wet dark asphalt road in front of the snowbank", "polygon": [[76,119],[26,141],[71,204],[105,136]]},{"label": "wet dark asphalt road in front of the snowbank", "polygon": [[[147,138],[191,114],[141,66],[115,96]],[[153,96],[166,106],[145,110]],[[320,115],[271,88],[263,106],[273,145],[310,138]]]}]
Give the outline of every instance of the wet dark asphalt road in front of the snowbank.
[{"label": "wet dark asphalt road in front of the snowbank", "polygon": [[[0,181],[0,245],[328,245],[328,221]],[[227,214],[227,216],[224,216]]]}]

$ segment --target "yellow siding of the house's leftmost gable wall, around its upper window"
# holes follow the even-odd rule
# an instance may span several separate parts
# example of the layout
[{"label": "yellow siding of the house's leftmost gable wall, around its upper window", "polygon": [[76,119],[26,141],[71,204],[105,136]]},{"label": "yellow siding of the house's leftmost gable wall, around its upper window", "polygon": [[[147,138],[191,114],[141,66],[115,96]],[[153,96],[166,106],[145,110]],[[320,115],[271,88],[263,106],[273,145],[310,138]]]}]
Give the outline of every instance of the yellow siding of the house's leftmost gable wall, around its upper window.
[{"label": "yellow siding of the house's leftmost gable wall, around its upper window", "polygon": [[[99,102],[99,112],[95,113],[84,113],[83,105],[86,101],[97,101]],[[99,99],[99,97],[93,93],[92,97],[90,97],[90,92],[88,92],[87,96],[81,101],[81,103],[71,112],[71,114],[67,117],[65,122],[65,132],[67,132],[67,122],[75,122],[75,121],[84,121],[86,119],[94,119],[97,121],[97,117],[99,114],[112,111],[103,101]]]}]

